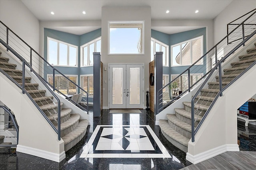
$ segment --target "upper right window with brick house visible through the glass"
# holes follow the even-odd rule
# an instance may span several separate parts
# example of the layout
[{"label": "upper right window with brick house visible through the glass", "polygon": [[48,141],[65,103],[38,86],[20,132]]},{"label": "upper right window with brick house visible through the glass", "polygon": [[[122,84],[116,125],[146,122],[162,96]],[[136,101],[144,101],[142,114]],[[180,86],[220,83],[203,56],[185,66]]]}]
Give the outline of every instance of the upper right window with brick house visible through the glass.
[{"label": "upper right window with brick house visible through the glass", "polygon": [[[172,66],[187,66],[195,63],[203,55],[203,36],[171,46]],[[204,64],[203,59],[196,63]]]}]

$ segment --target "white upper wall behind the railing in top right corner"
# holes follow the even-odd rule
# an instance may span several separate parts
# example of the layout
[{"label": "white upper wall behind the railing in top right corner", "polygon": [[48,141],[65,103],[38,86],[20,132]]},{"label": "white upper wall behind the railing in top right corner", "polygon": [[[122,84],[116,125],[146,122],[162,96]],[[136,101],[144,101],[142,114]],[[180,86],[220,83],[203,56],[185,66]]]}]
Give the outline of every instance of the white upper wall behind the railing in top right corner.
[{"label": "white upper wall behind the railing in top right corner", "polygon": [[256,8],[255,0],[233,0],[214,18],[214,44],[227,35],[227,24]]}]

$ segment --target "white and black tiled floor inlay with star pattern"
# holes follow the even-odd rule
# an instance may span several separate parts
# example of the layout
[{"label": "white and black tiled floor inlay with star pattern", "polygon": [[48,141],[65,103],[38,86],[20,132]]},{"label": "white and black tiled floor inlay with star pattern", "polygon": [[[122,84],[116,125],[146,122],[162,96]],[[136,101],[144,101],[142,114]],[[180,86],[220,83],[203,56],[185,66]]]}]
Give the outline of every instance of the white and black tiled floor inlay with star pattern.
[{"label": "white and black tiled floor inlay with star pattern", "polygon": [[80,158],[172,158],[149,125],[98,125]]}]

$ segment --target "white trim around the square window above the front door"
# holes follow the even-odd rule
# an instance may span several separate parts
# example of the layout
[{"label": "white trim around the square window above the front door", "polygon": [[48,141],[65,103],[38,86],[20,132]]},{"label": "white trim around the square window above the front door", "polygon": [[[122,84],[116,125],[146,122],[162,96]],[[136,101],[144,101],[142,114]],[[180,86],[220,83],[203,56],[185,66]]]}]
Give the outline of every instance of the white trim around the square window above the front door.
[{"label": "white trim around the square window above the front door", "polygon": [[[130,53],[130,54],[122,54],[122,53],[119,53],[119,54],[112,54],[110,53],[110,24],[111,23],[142,23],[142,53],[140,54],[133,54],[133,53]],[[145,21],[108,21],[108,55],[145,55],[145,47],[144,47],[144,42],[145,42],[145,30],[144,30],[144,23]]]}]

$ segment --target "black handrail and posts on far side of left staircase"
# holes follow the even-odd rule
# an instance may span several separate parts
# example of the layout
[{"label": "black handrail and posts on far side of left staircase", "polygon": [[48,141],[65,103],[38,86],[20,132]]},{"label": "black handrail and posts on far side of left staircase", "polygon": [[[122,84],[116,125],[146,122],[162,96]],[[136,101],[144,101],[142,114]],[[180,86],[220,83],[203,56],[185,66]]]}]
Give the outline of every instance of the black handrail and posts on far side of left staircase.
[{"label": "black handrail and posts on far side of left staircase", "polygon": [[[81,88],[80,86],[78,86],[75,82],[73,82],[72,80],[70,80],[67,76],[65,76],[64,74],[62,74],[62,72],[60,72],[58,69],[56,69],[54,66],[52,66],[50,63],[48,63],[48,61],[46,61],[46,59],[44,59],[40,54],[38,54],[30,45],[28,45],[28,43],[26,43],[22,38],[20,38],[16,33],[14,33],[14,31],[12,31],[7,25],[5,25],[2,21],[0,21],[0,23],[2,23],[5,27],[6,27],[6,42],[8,45],[8,30],[11,31],[16,37],[18,37],[18,39],[20,39],[24,44],[26,44],[29,48],[30,48],[30,66],[32,67],[32,51],[34,51],[34,53],[36,53],[36,55],[38,55],[44,62],[46,62],[46,64],[48,64],[50,67],[52,67],[53,69],[53,76],[55,73],[55,70],[60,73],[63,77],[65,77],[67,80],[69,80],[70,82],[72,82],[76,87],[78,87],[80,90],[82,90],[83,92],[86,93],[86,100],[87,100],[87,114],[89,114],[89,102],[88,102],[88,92],[86,92],[83,88]],[[7,49],[8,51],[8,49]],[[47,80],[45,80],[44,78],[42,78],[45,82],[47,82]],[[53,84],[53,91],[57,90],[54,87]],[[76,103],[76,102],[75,102]]]}]

